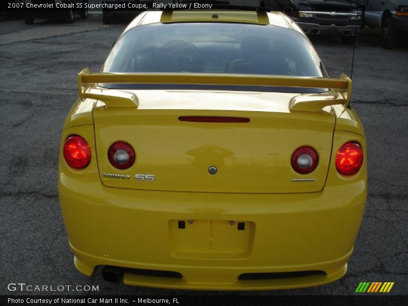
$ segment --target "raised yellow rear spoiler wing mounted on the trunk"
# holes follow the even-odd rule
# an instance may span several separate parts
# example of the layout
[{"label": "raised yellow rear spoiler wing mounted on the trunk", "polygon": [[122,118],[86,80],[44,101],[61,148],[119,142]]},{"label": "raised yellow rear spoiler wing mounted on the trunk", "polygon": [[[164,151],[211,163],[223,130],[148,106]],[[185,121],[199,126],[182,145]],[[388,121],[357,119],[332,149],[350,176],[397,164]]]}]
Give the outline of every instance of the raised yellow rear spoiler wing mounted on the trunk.
[{"label": "raised yellow rear spoiler wing mounted on the trunk", "polygon": [[291,111],[319,112],[329,105],[350,102],[351,80],[345,74],[339,79],[313,77],[286,77],[282,75],[221,74],[221,73],[90,73],[88,68],[78,74],[78,90],[81,99],[101,100],[108,107],[137,108],[134,93],[116,89],[93,88],[94,84],[188,84],[188,85],[236,85],[279,86],[300,88],[330,88],[328,92],[300,94],[289,103]]}]

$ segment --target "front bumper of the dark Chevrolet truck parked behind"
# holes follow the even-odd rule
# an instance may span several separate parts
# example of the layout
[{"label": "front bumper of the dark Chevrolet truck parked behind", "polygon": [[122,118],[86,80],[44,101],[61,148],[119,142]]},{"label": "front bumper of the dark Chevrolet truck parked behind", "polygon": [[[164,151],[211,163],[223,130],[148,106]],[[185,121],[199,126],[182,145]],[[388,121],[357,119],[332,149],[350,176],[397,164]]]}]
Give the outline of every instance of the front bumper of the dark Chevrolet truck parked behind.
[{"label": "front bumper of the dark Chevrolet truck parked behind", "polygon": [[319,23],[297,22],[305,34],[311,35],[333,35],[333,36],[358,36],[362,25],[322,25]]}]

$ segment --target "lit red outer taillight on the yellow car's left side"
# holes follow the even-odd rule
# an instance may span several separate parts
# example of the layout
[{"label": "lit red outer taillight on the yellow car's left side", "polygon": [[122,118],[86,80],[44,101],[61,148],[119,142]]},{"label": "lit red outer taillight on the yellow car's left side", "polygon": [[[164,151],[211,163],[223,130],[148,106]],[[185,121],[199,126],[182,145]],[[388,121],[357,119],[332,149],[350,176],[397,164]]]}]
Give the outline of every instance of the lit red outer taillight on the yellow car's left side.
[{"label": "lit red outer taillight on the yellow car's left side", "polygon": [[69,166],[82,169],[91,161],[91,148],[84,138],[71,135],[65,140],[64,158]]}]

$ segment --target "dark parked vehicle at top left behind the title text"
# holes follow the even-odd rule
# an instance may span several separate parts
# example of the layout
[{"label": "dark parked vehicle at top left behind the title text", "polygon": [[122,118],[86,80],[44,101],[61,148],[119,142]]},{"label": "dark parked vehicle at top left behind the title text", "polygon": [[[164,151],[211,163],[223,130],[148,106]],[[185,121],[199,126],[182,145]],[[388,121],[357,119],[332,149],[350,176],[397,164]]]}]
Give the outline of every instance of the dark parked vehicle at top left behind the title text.
[{"label": "dark parked vehicle at top left behind the title text", "polygon": [[[81,18],[88,17],[88,0],[24,0],[26,8],[23,9],[23,18],[26,24],[32,24],[35,18],[62,18],[66,23],[72,23],[74,14],[80,14]],[[35,9],[29,5],[52,4],[52,9]],[[67,9],[57,8],[66,4]]]}]

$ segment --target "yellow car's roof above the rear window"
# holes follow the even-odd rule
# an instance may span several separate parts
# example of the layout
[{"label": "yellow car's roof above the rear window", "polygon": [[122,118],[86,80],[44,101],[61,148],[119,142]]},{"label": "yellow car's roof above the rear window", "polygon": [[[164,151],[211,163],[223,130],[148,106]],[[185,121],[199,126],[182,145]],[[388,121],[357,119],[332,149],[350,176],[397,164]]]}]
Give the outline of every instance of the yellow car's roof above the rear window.
[{"label": "yellow car's roof above the rear window", "polygon": [[303,33],[298,25],[281,12],[242,10],[175,10],[145,11],[138,15],[123,33],[140,25],[181,22],[227,22],[276,25]]}]

